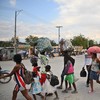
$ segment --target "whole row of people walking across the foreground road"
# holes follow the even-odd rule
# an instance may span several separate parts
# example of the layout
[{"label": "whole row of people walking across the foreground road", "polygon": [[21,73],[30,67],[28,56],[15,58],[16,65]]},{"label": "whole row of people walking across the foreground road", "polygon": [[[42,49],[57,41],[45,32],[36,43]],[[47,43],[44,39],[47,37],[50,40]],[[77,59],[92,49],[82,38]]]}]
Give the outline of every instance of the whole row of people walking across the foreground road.
[{"label": "whole row of people walking across the foreground road", "polygon": [[[52,96],[53,94],[55,94],[54,100],[59,100],[57,89],[62,89],[63,81],[65,81],[65,89],[62,90],[62,93],[68,93],[69,90],[72,90],[72,86],[74,90],[71,93],[78,93],[74,75],[75,59],[68,54],[68,51],[61,50],[61,52],[64,56],[64,67],[61,73],[61,82],[57,88],[50,84],[53,72],[51,71],[52,66],[49,65],[49,59],[45,56],[45,52],[40,52],[40,55],[34,54],[30,58],[33,67],[33,79],[29,89],[26,89],[26,83],[23,78],[25,66],[22,64],[22,57],[20,54],[14,55],[13,60],[16,64],[13,70],[8,75],[0,77],[4,78],[14,75],[16,85],[13,90],[12,100],[16,100],[19,91],[27,100],[32,100],[32,96],[34,100],[37,100],[37,95],[41,97],[41,100],[46,100],[47,96]],[[41,61],[41,66],[38,66],[38,59]],[[96,53],[89,55],[88,61],[87,59],[85,60],[85,66],[88,72],[86,86],[89,87],[90,85],[89,93],[91,93],[94,92],[93,80],[96,80],[96,82],[100,84],[100,59],[97,58]],[[29,95],[29,92],[32,96]]]}]

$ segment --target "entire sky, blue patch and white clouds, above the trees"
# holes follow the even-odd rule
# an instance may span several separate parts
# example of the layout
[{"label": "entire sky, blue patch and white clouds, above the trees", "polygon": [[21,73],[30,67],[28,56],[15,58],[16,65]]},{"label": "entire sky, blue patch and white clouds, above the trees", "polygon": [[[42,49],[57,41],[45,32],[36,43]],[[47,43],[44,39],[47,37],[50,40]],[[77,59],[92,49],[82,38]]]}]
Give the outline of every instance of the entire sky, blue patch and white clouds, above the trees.
[{"label": "entire sky, blue patch and white clouds, above the trees", "polygon": [[60,38],[100,41],[100,0],[0,0],[0,40],[14,37],[15,11],[20,41],[33,35],[57,42],[56,26],[63,26]]}]

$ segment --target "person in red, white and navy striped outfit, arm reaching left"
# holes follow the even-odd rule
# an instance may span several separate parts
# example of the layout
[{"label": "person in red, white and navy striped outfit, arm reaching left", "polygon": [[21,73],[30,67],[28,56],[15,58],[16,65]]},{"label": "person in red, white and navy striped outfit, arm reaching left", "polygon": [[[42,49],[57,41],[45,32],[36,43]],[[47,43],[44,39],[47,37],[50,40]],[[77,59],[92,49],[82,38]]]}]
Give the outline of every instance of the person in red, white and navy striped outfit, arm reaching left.
[{"label": "person in red, white and navy striped outfit, arm reaching left", "polygon": [[[25,69],[24,69],[24,65],[22,64],[21,55],[15,54],[13,57],[13,60],[16,64],[15,64],[14,68],[12,69],[12,71],[7,75],[1,76],[0,79],[14,75],[14,80],[16,82],[16,85],[13,90],[12,100],[17,99],[17,95],[18,95],[19,91],[22,93],[22,95],[25,97],[25,99],[32,100],[31,96],[29,96],[29,94],[28,94],[28,91],[26,89],[26,83],[23,78]],[[9,90],[8,90],[8,92],[9,92]]]}]

